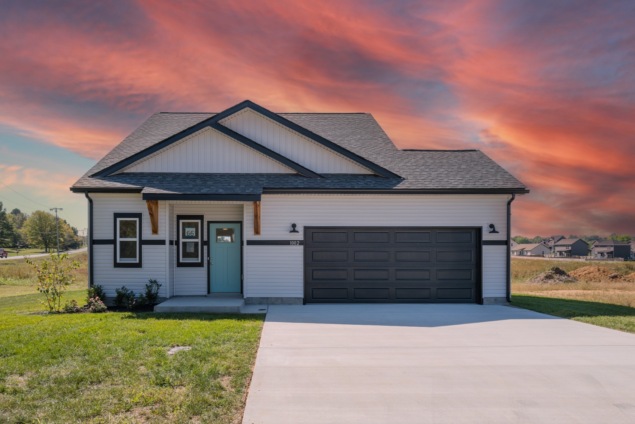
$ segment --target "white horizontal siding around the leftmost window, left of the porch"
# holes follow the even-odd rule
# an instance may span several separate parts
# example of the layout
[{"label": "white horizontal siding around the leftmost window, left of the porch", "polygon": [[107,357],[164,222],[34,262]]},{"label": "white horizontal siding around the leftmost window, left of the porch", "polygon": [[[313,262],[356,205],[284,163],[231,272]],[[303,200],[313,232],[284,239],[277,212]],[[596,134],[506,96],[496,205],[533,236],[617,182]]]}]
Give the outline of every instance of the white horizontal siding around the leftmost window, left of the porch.
[{"label": "white horizontal siding around the leftmost window, left of the porch", "polygon": [[[164,202],[159,202],[159,234],[152,235],[150,215],[140,194],[91,193],[93,199],[93,239],[114,240],[113,214],[116,212],[141,212],[142,238],[144,240],[166,240],[166,214]],[[140,294],[148,280],[161,283],[160,297],[168,297],[166,281],[165,245],[145,245],[141,247],[143,268],[114,268],[114,246],[93,245],[93,278],[95,284],[103,285],[107,296],[115,296],[115,289],[125,285]]]}]

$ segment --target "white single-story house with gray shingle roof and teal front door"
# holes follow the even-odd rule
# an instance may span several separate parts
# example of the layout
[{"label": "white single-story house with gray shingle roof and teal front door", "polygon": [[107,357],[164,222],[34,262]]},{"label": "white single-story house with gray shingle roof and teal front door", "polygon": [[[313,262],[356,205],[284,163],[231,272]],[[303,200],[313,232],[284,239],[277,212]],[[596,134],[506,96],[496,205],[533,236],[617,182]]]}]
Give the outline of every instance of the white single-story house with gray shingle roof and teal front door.
[{"label": "white single-story house with gray shingle roof and teal front door", "polygon": [[398,149],[367,113],[156,113],[70,188],[108,297],[505,303],[511,202],[478,150]]}]

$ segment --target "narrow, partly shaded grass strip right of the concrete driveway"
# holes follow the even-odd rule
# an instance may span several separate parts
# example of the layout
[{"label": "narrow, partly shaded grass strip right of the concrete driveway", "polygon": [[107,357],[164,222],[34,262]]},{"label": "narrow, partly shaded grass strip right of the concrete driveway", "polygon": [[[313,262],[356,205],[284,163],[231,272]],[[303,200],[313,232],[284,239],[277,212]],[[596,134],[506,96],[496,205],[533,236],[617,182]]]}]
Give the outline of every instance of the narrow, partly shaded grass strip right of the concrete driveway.
[{"label": "narrow, partly shaded grass strip right of the concrete driveway", "polygon": [[635,333],[635,308],[620,304],[512,294],[512,306]]}]

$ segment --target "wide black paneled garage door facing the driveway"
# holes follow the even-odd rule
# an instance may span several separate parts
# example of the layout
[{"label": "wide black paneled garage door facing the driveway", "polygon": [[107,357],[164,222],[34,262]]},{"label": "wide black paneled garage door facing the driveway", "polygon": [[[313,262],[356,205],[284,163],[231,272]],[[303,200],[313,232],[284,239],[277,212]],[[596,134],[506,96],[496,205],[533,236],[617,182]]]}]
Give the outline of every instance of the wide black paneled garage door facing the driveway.
[{"label": "wide black paneled garage door facing the driveway", "polygon": [[306,303],[476,303],[476,228],[305,228]]}]

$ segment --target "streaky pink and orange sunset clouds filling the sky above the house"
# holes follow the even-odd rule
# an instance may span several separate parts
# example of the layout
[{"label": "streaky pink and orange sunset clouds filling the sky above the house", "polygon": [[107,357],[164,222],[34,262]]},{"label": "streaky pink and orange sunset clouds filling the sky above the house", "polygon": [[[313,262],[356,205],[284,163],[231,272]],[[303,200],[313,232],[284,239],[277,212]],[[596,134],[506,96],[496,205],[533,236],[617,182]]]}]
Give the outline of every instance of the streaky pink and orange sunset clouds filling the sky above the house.
[{"label": "streaky pink and orange sunset clouds filling the sky above the house", "polygon": [[635,235],[628,2],[10,3],[0,124],[98,159],[158,110],[373,113],[403,148],[485,151],[514,232]]}]

